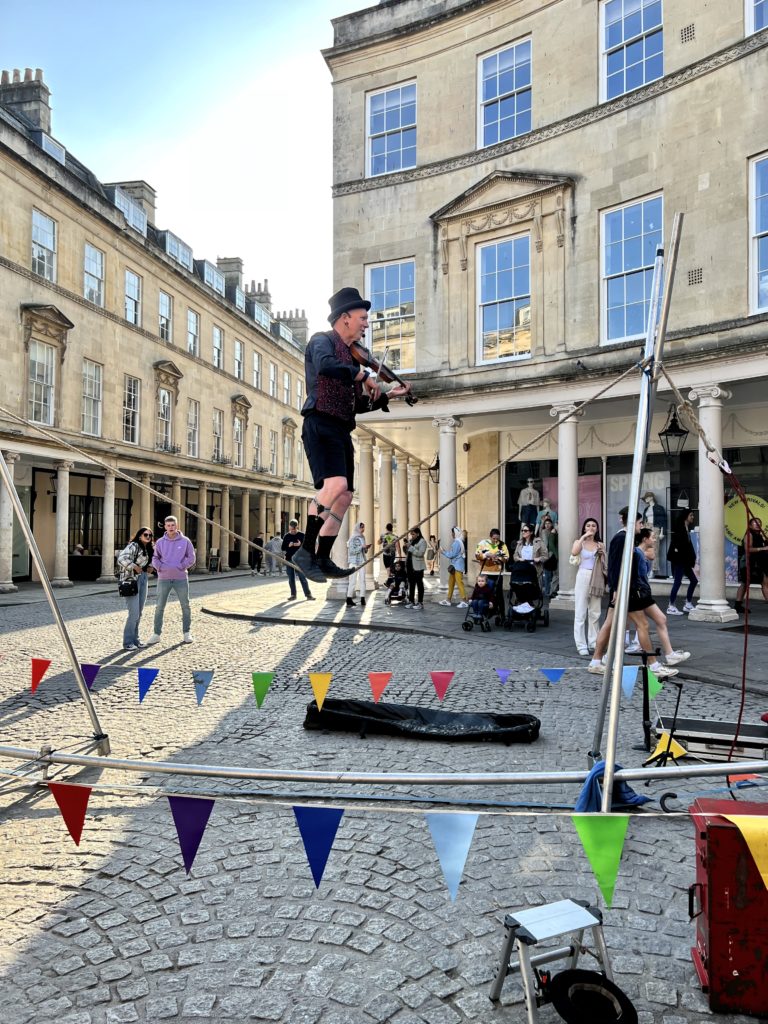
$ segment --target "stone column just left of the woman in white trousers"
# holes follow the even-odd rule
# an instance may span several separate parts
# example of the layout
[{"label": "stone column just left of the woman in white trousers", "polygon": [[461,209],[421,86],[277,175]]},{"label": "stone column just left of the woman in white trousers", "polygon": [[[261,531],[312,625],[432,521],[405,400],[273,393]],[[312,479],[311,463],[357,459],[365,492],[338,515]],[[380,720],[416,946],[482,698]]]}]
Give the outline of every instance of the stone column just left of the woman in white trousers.
[{"label": "stone column just left of the woman in white trousers", "polygon": [[557,534],[558,572],[560,587],[553,605],[560,608],[574,607],[577,567],[569,562],[570,548],[579,537],[579,418],[581,412],[569,419],[575,406],[553,406],[550,416],[558,418],[557,428]]}]

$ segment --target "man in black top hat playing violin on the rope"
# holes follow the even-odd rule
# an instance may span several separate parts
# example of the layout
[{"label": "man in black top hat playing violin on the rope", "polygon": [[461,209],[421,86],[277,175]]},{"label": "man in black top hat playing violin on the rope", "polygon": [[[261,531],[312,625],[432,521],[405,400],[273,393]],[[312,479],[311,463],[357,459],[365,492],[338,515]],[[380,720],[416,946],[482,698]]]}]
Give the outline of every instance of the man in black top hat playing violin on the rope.
[{"label": "man in black top hat playing violin on the rope", "polygon": [[307,397],[301,410],[301,439],[317,494],[309,505],[304,544],[293,556],[293,565],[315,583],[354,571],[340,568],[331,559],[352,501],[354,417],[376,409],[387,412],[390,397],[411,390],[409,384],[377,380],[376,374],[352,357],[350,346],[365,335],[371,308],[357,289],[342,288],[328,303],[332,330],[313,334],[304,353]]}]

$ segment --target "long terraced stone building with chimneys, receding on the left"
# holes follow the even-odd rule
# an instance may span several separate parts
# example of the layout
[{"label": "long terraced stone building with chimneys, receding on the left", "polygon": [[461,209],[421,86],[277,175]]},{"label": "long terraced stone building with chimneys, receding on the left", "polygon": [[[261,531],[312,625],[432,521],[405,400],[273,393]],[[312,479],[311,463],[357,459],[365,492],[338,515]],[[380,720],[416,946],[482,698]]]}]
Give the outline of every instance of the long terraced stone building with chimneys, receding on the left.
[{"label": "long terraced stone building with chimneys, receding on the left", "polygon": [[[247,566],[225,530],[281,532],[312,494],[306,317],[272,315],[241,259],[196,258],[146,182],[100,182],[51,135],[48,96],[41,72],[2,73],[0,446],[47,571],[114,581],[115,550],[172,510],[200,571],[212,551]],[[32,574],[11,523],[0,486],[0,590]]]}]

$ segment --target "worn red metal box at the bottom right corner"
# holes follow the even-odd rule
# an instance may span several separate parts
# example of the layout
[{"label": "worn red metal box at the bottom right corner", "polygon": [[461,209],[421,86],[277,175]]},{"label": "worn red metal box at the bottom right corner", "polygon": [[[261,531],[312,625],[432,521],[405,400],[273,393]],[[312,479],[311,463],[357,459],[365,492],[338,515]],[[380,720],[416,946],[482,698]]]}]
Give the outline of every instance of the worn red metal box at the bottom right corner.
[{"label": "worn red metal box at the bottom right corner", "polygon": [[718,1013],[768,1014],[768,889],[740,831],[722,815],[768,815],[768,804],[696,800],[693,966]]}]

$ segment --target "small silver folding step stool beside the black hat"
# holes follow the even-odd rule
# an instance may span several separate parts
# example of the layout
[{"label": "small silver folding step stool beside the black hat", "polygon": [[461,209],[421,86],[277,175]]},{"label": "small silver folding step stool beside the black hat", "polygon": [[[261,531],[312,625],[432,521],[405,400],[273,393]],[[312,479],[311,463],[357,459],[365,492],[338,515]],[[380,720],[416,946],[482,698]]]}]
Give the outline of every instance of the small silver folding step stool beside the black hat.
[{"label": "small silver folding step stool beside the black hat", "polygon": [[[594,955],[600,964],[600,970],[608,981],[613,980],[608,963],[608,950],[603,938],[602,912],[595,906],[578,900],[562,899],[530,910],[520,910],[514,915],[508,913],[504,919],[504,927],[507,934],[502,948],[502,963],[490,986],[490,999],[498,1002],[504,979],[508,974],[519,971],[525,992],[528,1024],[537,1024],[539,1007],[548,1001],[537,978],[536,969],[542,964],[551,964],[552,961],[562,959],[565,956],[568,957],[568,963],[563,970],[574,969],[580,953],[585,950],[583,940],[584,933],[588,929],[592,929],[592,941],[596,947]],[[536,946],[539,942],[560,935],[570,935],[567,946],[558,946],[556,949],[547,949],[545,952],[530,955],[529,946]],[[510,963],[513,946],[518,958]]]}]

